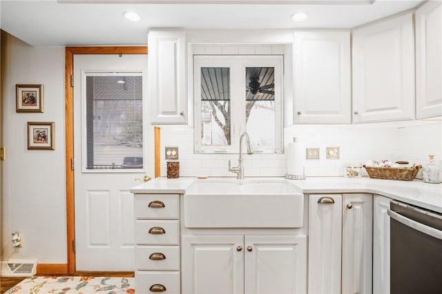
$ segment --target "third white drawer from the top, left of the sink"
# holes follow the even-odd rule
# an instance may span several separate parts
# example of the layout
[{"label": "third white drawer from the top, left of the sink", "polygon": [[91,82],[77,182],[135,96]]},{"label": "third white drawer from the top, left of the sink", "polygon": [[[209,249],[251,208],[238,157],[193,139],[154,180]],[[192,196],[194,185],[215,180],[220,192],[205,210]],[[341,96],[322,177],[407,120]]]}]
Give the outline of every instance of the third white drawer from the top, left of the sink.
[{"label": "third white drawer from the top, left of the sink", "polygon": [[180,271],[180,246],[135,246],[135,269]]}]

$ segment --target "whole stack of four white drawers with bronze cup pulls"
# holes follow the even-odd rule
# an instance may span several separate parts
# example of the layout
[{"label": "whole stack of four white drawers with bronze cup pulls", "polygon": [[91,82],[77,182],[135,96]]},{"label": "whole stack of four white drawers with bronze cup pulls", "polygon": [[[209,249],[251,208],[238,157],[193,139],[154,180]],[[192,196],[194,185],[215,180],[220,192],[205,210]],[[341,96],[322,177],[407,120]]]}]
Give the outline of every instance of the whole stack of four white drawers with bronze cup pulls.
[{"label": "whole stack of four white drawers with bronze cup pulls", "polygon": [[135,194],[135,291],[180,293],[180,196]]}]

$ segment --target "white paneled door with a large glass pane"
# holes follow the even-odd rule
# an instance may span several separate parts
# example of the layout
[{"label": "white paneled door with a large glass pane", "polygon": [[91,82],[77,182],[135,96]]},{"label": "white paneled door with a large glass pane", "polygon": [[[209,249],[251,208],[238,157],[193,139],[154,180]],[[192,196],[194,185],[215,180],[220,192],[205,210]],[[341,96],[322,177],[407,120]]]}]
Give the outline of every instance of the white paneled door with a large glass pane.
[{"label": "white paneled door with a large glass pane", "polygon": [[146,73],[147,55],[74,58],[76,271],[135,268],[129,189],[153,172]]}]

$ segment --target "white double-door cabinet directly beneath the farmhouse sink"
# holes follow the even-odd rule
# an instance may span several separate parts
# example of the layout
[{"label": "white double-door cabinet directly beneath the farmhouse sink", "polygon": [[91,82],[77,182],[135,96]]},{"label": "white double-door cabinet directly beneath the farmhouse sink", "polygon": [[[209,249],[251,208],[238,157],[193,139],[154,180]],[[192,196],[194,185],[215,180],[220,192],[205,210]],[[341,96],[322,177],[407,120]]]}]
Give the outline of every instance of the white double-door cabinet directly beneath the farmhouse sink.
[{"label": "white double-door cabinet directly beneath the farmhouse sink", "polygon": [[305,293],[305,235],[183,235],[182,293]]}]

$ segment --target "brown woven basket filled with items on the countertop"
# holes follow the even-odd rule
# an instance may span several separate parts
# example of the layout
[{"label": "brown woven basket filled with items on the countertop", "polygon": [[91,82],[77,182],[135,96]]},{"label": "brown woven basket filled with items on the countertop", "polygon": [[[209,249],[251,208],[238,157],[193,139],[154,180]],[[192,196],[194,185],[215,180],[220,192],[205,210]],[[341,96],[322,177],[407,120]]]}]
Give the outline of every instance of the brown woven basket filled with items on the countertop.
[{"label": "brown woven basket filled with items on the countertop", "polygon": [[[367,162],[363,165],[370,178],[378,178],[384,180],[413,180],[422,165],[413,165],[412,167],[403,167],[408,162],[396,162],[393,164],[387,160],[378,160]],[[373,162],[373,163],[372,163]],[[391,163],[391,164],[390,164]],[[374,166],[368,166],[374,165]]]}]

